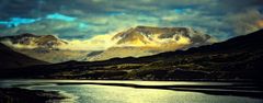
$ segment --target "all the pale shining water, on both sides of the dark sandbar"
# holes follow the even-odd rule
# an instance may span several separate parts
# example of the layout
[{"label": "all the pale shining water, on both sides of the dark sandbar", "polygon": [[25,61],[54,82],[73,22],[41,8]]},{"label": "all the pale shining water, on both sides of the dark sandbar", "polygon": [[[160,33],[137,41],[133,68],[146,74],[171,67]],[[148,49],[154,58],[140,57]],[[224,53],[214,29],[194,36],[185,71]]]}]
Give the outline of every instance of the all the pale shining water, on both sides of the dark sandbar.
[{"label": "all the pale shining water, on both sides of the dark sandbar", "polygon": [[[56,84],[56,82],[64,82],[65,84]],[[77,82],[78,84],[72,84],[72,82]],[[88,84],[90,82],[140,85],[228,84],[220,82],[9,80],[2,81],[1,85],[21,87],[33,90],[60,91],[64,94],[71,96],[71,100],[62,101],[62,103],[263,103],[263,100],[261,99],[244,96],[210,95],[199,92]]]}]

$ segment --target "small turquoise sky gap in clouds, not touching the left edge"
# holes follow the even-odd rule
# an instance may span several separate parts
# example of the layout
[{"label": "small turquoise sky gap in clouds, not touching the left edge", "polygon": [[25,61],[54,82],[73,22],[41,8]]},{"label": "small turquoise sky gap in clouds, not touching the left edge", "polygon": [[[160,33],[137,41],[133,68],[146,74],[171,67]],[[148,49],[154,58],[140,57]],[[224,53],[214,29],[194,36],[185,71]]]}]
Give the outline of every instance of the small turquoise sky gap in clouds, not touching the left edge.
[{"label": "small turquoise sky gap in clouds, not touching the left edge", "polygon": [[73,22],[73,21],[77,20],[77,18],[64,15],[64,14],[60,14],[60,13],[48,14],[48,15],[46,16],[46,19],[62,20],[62,21],[67,21],[67,22]]}]

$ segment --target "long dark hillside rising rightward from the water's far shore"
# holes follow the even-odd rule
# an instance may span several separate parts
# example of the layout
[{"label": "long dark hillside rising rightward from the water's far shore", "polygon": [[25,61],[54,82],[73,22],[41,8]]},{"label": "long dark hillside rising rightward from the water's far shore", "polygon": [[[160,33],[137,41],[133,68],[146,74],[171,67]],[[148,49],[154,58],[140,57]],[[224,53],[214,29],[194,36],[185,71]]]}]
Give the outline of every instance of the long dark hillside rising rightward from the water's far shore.
[{"label": "long dark hillside rising rightward from the water's far shore", "polygon": [[[4,71],[1,78],[260,80],[263,30],[222,43],[140,58],[68,61]],[[18,72],[20,72],[18,75]]]}]

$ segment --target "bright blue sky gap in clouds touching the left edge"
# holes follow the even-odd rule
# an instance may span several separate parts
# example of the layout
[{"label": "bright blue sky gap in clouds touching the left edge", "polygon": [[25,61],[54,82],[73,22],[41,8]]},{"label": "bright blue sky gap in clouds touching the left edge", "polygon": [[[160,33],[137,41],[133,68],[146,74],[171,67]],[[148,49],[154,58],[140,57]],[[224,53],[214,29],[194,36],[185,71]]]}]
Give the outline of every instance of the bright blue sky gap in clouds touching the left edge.
[{"label": "bright blue sky gap in clouds touching the left edge", "polygon": [[10,21],[0,21],[0,25],[5,25],[7,27],[15,27],[21,24],[31,24],[39,20],[42,19],[11,18]]}]

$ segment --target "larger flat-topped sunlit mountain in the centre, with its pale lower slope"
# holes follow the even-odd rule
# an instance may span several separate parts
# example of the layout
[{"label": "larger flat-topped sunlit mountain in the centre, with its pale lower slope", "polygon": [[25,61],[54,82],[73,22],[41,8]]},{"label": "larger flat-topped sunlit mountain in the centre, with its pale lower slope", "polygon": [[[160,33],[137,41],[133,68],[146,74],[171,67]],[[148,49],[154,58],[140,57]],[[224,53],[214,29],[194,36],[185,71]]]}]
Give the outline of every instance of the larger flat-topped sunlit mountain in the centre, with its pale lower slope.
[{"label": "larger flat-topped sunlit mountain in the centre, with its pale lower slope", "polygon": [[209,35],[188,27],[137,26],[114,35],[112,41],[116,44],[113,47],[89,56],[87,60],[149,56],[211,44],[211,39]]}]

